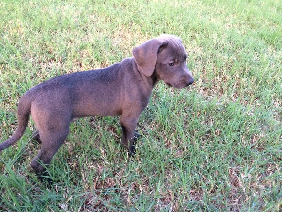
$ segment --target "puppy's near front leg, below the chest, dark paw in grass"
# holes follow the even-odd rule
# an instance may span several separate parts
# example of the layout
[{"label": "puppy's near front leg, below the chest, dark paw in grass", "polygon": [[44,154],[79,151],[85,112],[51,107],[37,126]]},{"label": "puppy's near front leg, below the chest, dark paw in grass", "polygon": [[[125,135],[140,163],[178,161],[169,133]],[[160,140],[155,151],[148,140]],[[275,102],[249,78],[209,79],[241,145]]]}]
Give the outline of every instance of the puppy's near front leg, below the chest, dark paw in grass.
[{"label": "puppy's near front leg, below the chest, dark paw in grass", "polygon": [[130,115],[128,113],[122,114],[120,117],[122,127],[121,143],[127,148],[129,155],[135,154],[135,142],[139,137],[135,135],[138,119],[139,115]]}]

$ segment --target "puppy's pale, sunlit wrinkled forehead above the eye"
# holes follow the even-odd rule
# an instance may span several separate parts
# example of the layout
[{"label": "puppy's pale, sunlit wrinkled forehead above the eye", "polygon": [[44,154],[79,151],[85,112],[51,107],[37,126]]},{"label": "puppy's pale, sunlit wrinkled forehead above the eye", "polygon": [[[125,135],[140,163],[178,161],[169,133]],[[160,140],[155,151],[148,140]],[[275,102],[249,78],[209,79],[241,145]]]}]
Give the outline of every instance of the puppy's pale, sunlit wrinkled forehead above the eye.
[{"label": "puppy's pale, sunlit wrinkled forehead above the eye", "polygon": [[172,50],[172,53],[178,54],[180,57],[186,55],[185,47],[183,46],[179,37],[176,37],[175,35],[163,34],[159,37],[156,37],[156,39],[159,39],[160,41],[168,41],[169,44],[167,48]]}]

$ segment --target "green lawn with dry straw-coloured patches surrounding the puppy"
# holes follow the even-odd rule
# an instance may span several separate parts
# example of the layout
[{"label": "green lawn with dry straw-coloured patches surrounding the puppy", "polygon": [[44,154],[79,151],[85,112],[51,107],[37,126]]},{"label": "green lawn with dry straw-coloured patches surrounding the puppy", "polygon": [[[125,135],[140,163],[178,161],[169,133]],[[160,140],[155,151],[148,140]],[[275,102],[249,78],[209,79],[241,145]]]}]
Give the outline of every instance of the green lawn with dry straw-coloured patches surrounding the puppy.
[{"label": "green lawn with dry straw-coloured patches surrounding the puppy", "polygon": [[195,83],[160,82],[135,157],[118,117],[87,117],[49,171],[33,122],[0,153],[0,211],[281,211],[282,1],[0,1],[0,140],[16,106],[51,77],[106,67],[162,33],[182,38]]}]

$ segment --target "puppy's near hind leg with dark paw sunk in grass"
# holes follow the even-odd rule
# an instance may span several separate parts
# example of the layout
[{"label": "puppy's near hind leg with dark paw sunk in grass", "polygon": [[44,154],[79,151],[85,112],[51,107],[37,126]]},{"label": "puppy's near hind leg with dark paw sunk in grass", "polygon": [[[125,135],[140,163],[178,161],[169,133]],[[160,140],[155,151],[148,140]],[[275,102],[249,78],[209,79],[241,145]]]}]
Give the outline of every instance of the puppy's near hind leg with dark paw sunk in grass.
[{"label": "puppy's near hind leg with dark paw sunk in grass", "polygon": [[[41,149],[36,157],[31,162],[31,167],[38,176],[38,178],[43,181],[44,176],[48,175],[46,171],[46,166],[48,166],[56,154],[60,146],[66,140],[69,133],[69,128],[66,129],[56,129],[52,131],[40,132]],[[50,178],[46,177],[49,182],[52,182]]]}]

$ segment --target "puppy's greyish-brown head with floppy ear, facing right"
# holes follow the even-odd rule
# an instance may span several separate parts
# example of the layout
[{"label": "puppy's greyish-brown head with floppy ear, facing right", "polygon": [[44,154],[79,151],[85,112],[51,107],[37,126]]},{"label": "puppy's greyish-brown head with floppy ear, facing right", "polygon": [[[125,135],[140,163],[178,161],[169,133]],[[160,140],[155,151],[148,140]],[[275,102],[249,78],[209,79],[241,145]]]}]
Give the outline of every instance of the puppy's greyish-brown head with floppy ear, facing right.
[{"label": "puppy's greyish-brown head with floppy ear, facing right", "polygon": [[180,38],[163,34],[151,39],[132,51],[143,74],[153,74],[168,86],[178,89],[194,82],[186,65],[187,53]]}]

